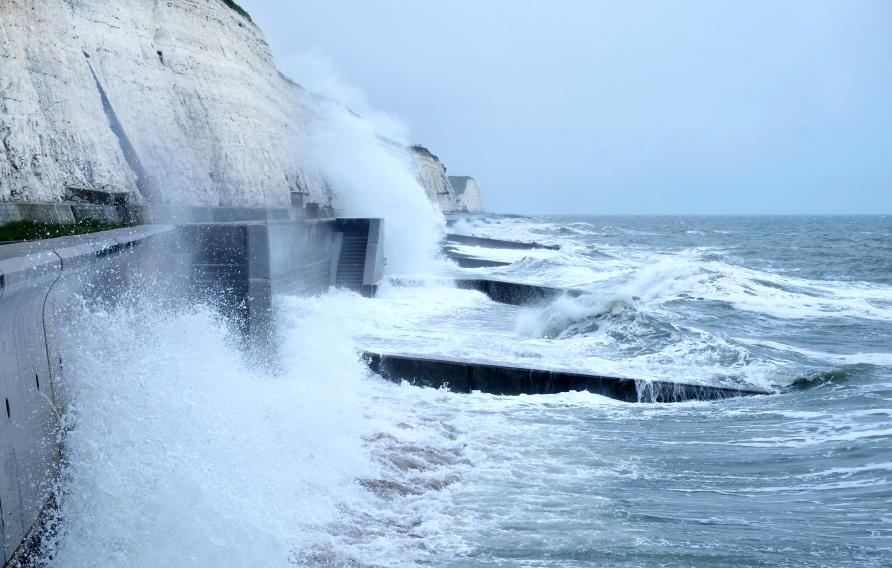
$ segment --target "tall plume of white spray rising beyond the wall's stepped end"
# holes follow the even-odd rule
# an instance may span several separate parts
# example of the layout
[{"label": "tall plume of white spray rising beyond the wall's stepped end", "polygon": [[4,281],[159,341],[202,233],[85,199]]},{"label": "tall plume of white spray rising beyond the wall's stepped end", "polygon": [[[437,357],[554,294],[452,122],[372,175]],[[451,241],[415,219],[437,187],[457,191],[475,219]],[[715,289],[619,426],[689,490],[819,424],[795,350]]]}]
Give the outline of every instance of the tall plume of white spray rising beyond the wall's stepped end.
[{"label": "tall plume of white spray rising beyond the wall's stepped end", "polygon": [[340,213],[384,219],[387,273],[439,271],[445,221],[416,177],[406,124],[373,108],[319,53],[294,55],[285,67],[316,93],[308,152]]}]

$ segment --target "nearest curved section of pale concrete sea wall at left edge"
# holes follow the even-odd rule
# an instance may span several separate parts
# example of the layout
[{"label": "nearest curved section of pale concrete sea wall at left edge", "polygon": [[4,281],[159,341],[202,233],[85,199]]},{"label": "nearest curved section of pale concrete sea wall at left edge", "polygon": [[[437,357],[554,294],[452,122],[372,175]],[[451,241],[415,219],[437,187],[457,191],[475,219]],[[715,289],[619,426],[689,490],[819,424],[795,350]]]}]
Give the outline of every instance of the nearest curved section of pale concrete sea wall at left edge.
[{"label": "nearest curved section of pale concrete sea wall at left edge", "polygon": [[64,408],[57,330],[74,294],[110,299],[138,251],[172,227],[0,247],[0,552],[5,561],[51,496]]}]

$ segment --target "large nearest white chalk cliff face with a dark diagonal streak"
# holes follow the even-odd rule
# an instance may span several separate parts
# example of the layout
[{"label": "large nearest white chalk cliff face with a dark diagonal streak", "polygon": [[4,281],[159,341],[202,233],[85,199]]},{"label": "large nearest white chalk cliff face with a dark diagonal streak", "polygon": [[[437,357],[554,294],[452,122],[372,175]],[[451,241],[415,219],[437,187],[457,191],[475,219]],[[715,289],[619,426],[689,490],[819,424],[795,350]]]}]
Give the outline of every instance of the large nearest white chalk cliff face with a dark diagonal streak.
[{"label": "large nearest white chalk cliff face with a dark diagonal streak", "polygon": [[66,185],[135,200],[326,202],[311,96],[221,0],[0,2],[0,200]]}]

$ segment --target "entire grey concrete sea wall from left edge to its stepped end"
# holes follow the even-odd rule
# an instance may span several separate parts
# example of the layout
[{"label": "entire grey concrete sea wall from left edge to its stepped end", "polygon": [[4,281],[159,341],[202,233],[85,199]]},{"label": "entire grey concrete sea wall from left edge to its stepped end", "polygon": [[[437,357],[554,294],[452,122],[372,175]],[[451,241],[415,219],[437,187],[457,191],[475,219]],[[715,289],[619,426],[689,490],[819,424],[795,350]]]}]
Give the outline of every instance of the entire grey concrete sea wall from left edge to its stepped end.
[{"label": "entire grey concrete sea wall from left edge to its stepped end", "polygon": [[[365,255],[341,263],[348,233],[351,250]],[[342,282],[374,293],[382,236],[378,219],[274,220],[145,225],[0,246],[3,565],[26,560],[51,504],[67,404],[62,333],[78,305],[114,304],[125,293],[206,300],[262,343],[274,332],[275,294],[327,290],[340,266],[351,271]]]}]

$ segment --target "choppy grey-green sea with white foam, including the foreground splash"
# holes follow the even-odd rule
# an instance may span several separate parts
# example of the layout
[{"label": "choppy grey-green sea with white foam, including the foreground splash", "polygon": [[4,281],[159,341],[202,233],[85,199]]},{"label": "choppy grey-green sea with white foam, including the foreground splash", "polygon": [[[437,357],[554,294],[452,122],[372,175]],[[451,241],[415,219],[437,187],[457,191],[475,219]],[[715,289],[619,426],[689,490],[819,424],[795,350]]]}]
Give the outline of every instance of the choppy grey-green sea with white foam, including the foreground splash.
[{"label": "choppy grey-green sea with white foam, including the foreground splash", "polygon": [[[47,562],[892,565],[892,217],[455,230],[561,249],[464,247],[511,264],[282,298],[270,371],[210,309],[85,316]],[[585,294],[504,306],[450,274]],[[776,394],[459,395],[370,376],[362,349]]]}]

